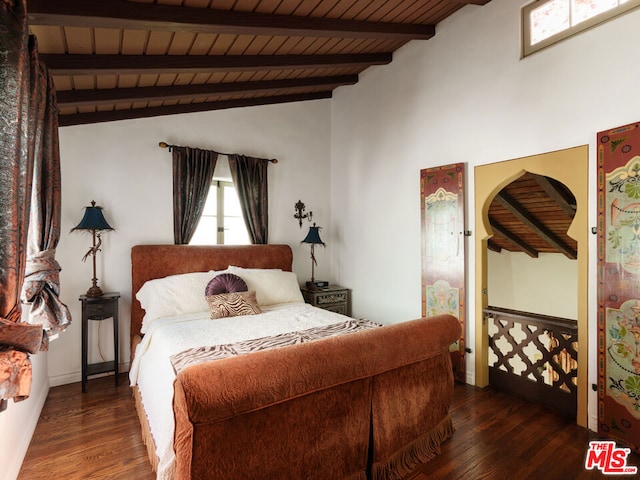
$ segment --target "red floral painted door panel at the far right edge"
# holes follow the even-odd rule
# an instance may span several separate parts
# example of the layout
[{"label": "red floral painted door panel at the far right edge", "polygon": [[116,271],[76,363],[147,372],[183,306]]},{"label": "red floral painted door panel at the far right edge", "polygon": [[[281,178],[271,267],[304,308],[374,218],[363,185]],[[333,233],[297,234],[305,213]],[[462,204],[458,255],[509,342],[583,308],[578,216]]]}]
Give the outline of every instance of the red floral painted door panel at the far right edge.
[{"label": "red floral painted door panel at the far right edge", "polygon": [[640,123],[598,133],[598,432],[640,447]]}]

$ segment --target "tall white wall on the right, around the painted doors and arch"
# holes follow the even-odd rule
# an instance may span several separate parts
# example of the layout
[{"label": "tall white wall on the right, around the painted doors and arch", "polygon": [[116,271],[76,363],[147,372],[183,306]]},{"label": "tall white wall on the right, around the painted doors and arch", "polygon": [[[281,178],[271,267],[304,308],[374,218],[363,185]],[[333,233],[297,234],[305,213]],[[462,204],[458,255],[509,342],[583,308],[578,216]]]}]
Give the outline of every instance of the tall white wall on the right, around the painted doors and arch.
[{"label": "tall white wall on the right, around the painted doors and arch", "polygon": [[[595,191],[596,134],[640,119],[640,10],[524,60],[520,8],[528,0],[468,5],[374,67],[332,102],[331,207],[334,276],[353,289],[357,316],[398,322],[421,314],[419,172],[473,167],[589,145]],[[589,201],[595,226],[595,195]],[[468,208],[467,228],[475,222]],[[473,239],[473,237],[472,237]],[[473,240],[472,240],[473,241]],[[337,248],[335,248],[337,247]],[[596,244],[589,245],[589,383],[596,382]],[[475,304],[468,250],[468,305]],[[475,335],[467,309],[468,344]],[[468,355],[468,380],[475,358]],[[590,392],[590,424],[596,397]]]}]

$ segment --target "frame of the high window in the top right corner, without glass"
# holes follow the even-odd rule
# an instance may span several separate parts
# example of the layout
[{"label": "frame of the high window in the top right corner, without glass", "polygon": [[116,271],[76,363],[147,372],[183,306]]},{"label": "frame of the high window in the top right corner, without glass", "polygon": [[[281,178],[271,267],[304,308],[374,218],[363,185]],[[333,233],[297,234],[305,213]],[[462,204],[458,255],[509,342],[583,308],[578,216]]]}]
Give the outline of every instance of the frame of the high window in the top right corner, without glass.
[{"label": "frame of the high window in the top right corner, without glass", "polygon": [[[640,0],[628,0],[626,3],[619,4],[615,8],[602,12],[601,14],[580,22],[576,25],[570,25],[566,30],[556,33],[551,37],[545,38],[535,45],[531,45],[531,12],[536,8],[544,5],[545,3],[549,3],[551,1],[552,0],[536,0],[522,7],[522,57],[531,55],[534,52],[542,50],[543,48],[553,45],[566,38],[572,37],[573,35],[583,32],[591,27],[609,21],[612,18],[617,17],[618,15],[627,13],[628,11],[640,6]],[[567,3],[571,2],[571,0],[565,1]]]}]

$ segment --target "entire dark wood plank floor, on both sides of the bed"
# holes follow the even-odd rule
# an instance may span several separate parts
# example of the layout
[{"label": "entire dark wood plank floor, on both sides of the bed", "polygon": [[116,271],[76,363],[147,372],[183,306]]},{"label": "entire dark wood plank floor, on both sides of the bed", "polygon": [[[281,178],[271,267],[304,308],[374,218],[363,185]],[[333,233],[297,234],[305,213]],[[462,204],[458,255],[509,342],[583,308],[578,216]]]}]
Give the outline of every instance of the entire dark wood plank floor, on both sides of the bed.
[{"label": "entire dark wood plank floor, on both sides of the bed", "polygon": [[[605,478],[584,468],[596,436],[543,407],[456,385],[451,412],[456,432],[441,455],[405,480]],[[91,380],[84,395],[79,383],[51,389],[18,479],[53,478],[155,478],[126,376],[118,387],[113,377]]]}]

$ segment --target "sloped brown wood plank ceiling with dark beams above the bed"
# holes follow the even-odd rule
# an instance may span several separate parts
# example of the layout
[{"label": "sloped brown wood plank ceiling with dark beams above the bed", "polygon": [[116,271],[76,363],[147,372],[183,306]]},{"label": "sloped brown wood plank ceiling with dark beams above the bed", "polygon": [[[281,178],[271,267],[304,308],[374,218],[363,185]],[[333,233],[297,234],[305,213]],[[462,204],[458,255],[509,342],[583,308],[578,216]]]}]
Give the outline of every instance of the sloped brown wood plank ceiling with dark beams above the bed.
[{"label": "sloped brown wood plank ceiling with dark beams above the bed", "polygon": [[331,97],[490,0],[28,0],[61,126]]}]

